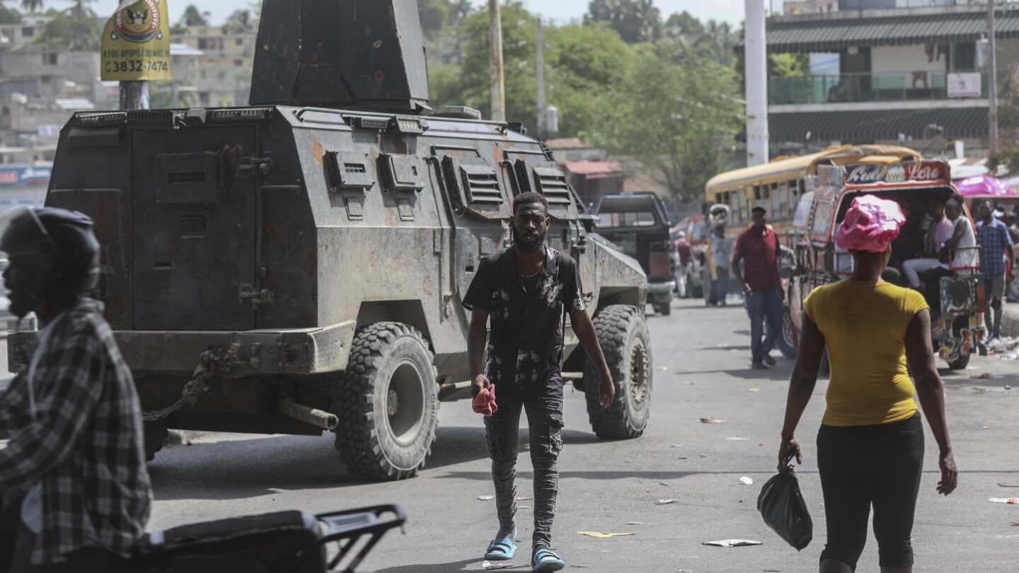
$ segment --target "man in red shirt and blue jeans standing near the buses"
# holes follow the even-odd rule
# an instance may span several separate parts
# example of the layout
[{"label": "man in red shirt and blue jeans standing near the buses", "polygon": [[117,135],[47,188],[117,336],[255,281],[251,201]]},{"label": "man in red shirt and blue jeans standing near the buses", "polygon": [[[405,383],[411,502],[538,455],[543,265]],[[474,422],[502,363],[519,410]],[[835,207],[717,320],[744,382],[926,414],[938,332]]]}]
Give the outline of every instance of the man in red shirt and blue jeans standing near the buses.
[{"label": "man in red shirt and blue jeans standing near the buses", "polygon": [[[750,311],[751,365],[758,370],[774,364],[769,354],[782,325],[782,280],[779,278],[779,236],[767,226],[767,211],[753,208],[754,224],[736,242],[733,275],[743,285]],[[739,263],[743,261],[744,273]],[[745,274],[745,276],[744,276]],[[767,316],[767,334],[761,343]]]}]

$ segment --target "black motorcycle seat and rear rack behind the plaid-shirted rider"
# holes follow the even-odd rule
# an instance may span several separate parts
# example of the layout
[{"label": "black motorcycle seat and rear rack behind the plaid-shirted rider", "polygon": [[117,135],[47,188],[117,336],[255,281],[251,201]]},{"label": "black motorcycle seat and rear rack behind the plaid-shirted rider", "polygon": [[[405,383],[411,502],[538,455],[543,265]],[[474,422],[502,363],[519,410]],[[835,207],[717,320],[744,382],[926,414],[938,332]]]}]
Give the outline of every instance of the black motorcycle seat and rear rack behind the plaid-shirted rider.
[{"label": "black motorcycle seat and rear rack behind the plaid-shirted rider", "polygon": [[[145,535],[116,573],[354,573],[382,536],[403,530],[406,521],[403,508],[385,505],[181,525]],[[328,551],[332,542],[334,552]]]}]

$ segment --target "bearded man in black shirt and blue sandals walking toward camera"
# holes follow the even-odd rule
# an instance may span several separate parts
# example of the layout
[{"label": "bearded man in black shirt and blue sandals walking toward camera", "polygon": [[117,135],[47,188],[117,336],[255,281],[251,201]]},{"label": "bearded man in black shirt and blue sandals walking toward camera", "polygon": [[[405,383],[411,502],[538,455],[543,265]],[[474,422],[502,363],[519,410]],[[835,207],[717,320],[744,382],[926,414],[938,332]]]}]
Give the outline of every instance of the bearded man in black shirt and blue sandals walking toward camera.
[{"label": "bearded man in black shirt and blue sandals walking toward camera", "polygon": [[551,551],[551,528],[558,490],[556,460],[562,449],[565,312],[570,313],[574,332],[601,376],[597,392],[603,408],[612,404],[615,385],[594,323],[585,311],[577,263],[544,245],[551,222],[548,201],[542,195],[525,193],[513,207],[513,246],[481,260],[464,297],[464,306],[472,311],[468,334],[471,392],[477,397],[493,384],[498,390],[497,408],[485,416],[485,441],[492,459],[499,530],[485,559],[508,560],[517,553],[515,482],[523,410],[534,466],[531,566],[533,571],[558,571],[566,564]]}]

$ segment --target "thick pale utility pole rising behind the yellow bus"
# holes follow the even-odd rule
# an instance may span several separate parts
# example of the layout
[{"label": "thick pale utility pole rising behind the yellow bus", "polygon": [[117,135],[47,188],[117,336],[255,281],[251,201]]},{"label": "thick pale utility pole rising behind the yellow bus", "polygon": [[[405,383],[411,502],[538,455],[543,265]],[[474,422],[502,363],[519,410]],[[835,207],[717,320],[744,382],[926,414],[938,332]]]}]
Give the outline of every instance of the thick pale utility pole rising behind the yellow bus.
[{"label": "thick pale utility pole rising behind the yellow bus", "polygon": [[747,79],[747,165],[768,162],[767,47],[764,43],[764,0],[746,0],[744,55]]}]

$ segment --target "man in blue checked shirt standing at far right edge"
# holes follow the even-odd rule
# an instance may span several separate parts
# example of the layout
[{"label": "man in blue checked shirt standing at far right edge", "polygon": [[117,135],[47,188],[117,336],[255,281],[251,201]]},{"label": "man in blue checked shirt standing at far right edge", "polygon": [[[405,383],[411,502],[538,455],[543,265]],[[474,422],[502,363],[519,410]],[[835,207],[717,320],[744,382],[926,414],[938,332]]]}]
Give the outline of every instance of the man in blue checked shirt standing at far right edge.
[{"label": "man in blue checked shirt standing at far right edge", "polygon": [[[983,272],[986,293],[983,322],[987,326],[987,342],[993,342],[1002,334],[1002,300],[1005,298],[1007,278],[1005,274],[1006,268],[1015,268],[1015,254],[1012,251],[1012,236],[1005,223],[994,217],[989,199],[980,202],[976,236],[980,242],[980,271]],[[1008,267],[1005,266],[1006,259]],[[994,321],[990,318],[991,309],[995,311]]]}]

